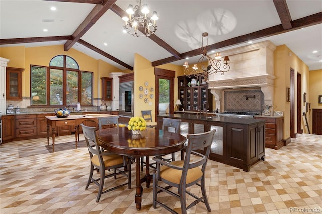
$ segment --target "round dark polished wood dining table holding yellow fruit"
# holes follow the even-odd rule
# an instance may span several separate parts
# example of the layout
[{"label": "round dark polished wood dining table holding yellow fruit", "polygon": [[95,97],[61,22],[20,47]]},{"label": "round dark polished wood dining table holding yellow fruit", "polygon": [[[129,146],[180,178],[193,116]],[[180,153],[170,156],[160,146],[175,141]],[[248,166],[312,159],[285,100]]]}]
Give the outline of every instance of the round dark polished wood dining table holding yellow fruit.
[{"label": "round dark polished wood dining table holding yellow fruit", "polygon": [[99,145],[110,152],[130,156],[135,160],[136,209],[141,209],[143,187],[146,183],[149,188],[152,175],[149,169],[149,158],[146,158],[146,173],[141,178],[141,157],[162,156],[180,151],[184,148],[187,138],[178,133],[146,128],[139,135],[132,134],[127,127],[115,127],[97,130],[96,135]]}]

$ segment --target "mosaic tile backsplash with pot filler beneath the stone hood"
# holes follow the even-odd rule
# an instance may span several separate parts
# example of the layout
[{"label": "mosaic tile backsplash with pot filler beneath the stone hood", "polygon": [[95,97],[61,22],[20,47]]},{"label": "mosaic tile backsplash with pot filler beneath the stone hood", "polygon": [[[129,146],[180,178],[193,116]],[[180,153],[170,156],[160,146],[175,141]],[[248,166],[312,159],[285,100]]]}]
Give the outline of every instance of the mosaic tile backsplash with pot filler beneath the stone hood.
[{"label": "mosaic tile backsplash with pot filler beneath the stone hood", "polygon": [[225,111],[262,112],[264,94],[261,89],[224,91],[224,97]]}]

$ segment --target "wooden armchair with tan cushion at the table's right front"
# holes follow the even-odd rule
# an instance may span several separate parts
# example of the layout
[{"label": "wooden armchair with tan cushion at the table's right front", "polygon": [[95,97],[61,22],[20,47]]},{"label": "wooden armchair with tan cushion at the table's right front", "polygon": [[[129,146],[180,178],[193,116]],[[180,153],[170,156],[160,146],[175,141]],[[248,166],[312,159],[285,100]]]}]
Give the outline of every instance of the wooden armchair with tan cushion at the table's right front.
[{"label": "wooden armchair with tan cushion at the table's right front", "polygon": [[[167,206],[166,202],[157,200],[157,194],[166,192],[180,199],[181,213],[183,214],[187,213],[187,209],[190,209],[200,201],[205,203],[208,212],[211,212],[205,188],[205,171],[215,132],[216,130],[214,129],[204,133],[188,134],[187,140],[189,141],[184,148],[186,152],[184,160],[169,163],[157,157],[153,158],[157,163],[156,171],[153,172],[153,208],[156,208],[156,204],[159,204],[168,211],[177,213]],[[195,151],[204,151],[204,149],[205,154]],[[163,182],[166,186],[159,185],[158,182]],[[193,185],[201,187],[201,197],[188,191],[187,188]],[[176,188],[177,191],[172,190],[172,188]],[[195,189],[194,192],[199,193]],[[186,193],[195,199],[188,206],[186,206]]]}]

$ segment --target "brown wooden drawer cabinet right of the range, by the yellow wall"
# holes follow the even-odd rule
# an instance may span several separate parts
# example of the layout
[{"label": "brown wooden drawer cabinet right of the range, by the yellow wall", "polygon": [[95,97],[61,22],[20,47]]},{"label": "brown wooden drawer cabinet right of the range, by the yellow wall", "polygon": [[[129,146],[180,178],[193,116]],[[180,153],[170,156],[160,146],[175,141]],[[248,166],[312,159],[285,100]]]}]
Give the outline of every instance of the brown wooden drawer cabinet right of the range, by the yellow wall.
[{"label": "brown wooden drawer cabinet right of the range, by the yellow wall", "polygon": [[278,150],[284,146],[284,141],[283,141],[284,117],[254,116],[254,118],[266,120],[265,121],[265,147]]}]

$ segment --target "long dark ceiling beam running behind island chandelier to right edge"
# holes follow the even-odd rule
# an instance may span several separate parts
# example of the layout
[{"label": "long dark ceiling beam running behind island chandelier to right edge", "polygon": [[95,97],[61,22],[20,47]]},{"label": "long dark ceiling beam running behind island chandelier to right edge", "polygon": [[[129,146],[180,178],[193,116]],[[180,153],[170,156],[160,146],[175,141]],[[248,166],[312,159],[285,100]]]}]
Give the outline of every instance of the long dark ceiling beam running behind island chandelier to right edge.
[{"label": "long dark ceiling beam running behind island chandelier to right edge", "polygon": [[[287,29],[284,30],[282,25],[276,25],[273,27],[269,27],[266,29],[262,29],[259,31],[255,31],[249,34],[245,34],[243,36],[238,36],[235,38],[231,38],[222,42],[218,42],[212,45],[209,45],[209,50],[211,49],[219,49],[219,48],[224,48],[224,47],[229,47],[232,45],[238,45],[241,43],[245,43],[249,40],[254,40],[254,39],[261,39],[264,37],[269,37],[269,36],[274,36],[277,34],[281,34],[281,33],[286,33],[289,31],[293,31],[293,30],[297,30],[300,29],[302,27],[308,27],[308,26],[312,26],[312,25],[317,25],[317,24],[321,24],[322,23],[322,12],[316,13],[316,14],[312,14],[310,16],[307,17],[303,17],[297,20],[294,20],[292,22],[293,27],[291,29]],[[185,53],[180,54],[181,57],[179,59],[175,58],[175,57],[168,57],[165,59],[160,59],[157,61],[152,62],[152,66],[158,66],[158,65],[164,65],[167,63],[171,63],[171,62],[175,62],[178,60],[182,60],[186,57],[192,57],[192,56],[197,56],[202,54],[202,50],[200,50],[200,48],[192,50],[192,51],[188,51]]]}]

